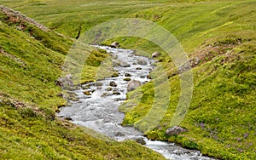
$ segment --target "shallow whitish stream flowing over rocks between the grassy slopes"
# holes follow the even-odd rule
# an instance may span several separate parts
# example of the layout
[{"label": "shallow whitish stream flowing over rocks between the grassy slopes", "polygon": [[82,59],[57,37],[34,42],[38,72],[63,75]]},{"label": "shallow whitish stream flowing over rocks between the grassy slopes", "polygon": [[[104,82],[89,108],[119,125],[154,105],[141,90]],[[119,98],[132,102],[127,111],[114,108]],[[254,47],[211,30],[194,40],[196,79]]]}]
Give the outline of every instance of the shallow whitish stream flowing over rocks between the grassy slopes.
[{"label": "shallow whitish stream flowing over rocks between the grassy slopes", "polygon": [[[138,80],[147,83],[149,71],[154,69],[154,60],[137,56],[131,49],[114,49],[106,46],[95,46],[105,49],[113,57],[114,69],[118,71],[118,77],[107,77],[96,83],[84,84],[84,89],[74,90],[78,100],[70,100],[70,106],[61,108],[59,117],[68,117],[72,122],[100,134],[105,134],[113,140],[142,140],[144,146],[160,152],[166,159],[198,159],[207,160],[211,157],[201,156],[200,151],[184,149],[174,143],[158,140],[148,140],[143,133],[132,127],[123,127],[125,115],[118,111],[119,106],[124,102],[127,93],[127,81]],[[137,64],[138,59],[143,59],[147,64]],[[126,74],[125,74],[126,73]],[[130,74],[130,75],[129,75]],[[130,77],[129,77],[130,76]],[[114,83],[113,83],[114,82]],[[112,83],[112,86],[110,85]],[[116,86],[115,86],[116,85]],[[84,94],[86,91],[86,94]]]}]

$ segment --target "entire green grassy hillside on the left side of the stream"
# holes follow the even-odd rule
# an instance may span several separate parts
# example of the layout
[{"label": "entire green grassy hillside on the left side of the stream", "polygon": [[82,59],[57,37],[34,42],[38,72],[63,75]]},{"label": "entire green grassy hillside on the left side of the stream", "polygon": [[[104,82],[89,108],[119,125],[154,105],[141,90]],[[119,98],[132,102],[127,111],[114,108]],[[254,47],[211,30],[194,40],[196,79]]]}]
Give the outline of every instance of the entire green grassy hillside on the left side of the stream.
[{"label": "entire green grassy hillside on the left side of the stream", "polygon": [[[55,80],[73,40],[18,17],[0,11],[0,159],[163,158],[133,141],[96,139],[56,118],[65,101]],[[93,51],[84,81],[106,56]]]}]

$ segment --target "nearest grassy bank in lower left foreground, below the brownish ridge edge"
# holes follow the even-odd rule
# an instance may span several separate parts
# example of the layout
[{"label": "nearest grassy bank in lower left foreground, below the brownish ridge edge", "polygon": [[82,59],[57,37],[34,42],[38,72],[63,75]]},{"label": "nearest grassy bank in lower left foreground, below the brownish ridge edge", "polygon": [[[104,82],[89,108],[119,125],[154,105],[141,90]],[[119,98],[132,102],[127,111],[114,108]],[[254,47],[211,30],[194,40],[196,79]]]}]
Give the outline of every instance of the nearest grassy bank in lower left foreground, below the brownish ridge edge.
[{"label": "nearest grassy bank in lower left foreground, below the brownish ridge edge", "polygon": [[161,158],[134,141],[119,143],[85,134],[84,129],[53,119],[55,112],[49,109],[17,108],[4,98],[0,114],[1,159]]}]

